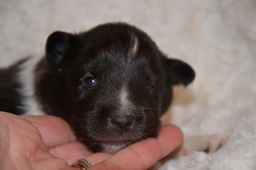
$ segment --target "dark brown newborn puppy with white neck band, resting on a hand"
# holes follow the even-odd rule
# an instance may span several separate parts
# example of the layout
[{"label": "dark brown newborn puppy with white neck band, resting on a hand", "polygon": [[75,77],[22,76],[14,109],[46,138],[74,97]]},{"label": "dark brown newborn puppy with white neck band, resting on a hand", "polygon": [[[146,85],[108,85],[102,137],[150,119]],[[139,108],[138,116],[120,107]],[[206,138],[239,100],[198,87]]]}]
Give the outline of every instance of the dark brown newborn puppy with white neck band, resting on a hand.
[{"label": "dark brown newborn puppy with white neck band, resting on a hand", "polygon": [[0,70],[0,111],[60,116],[91,149],[113,153],[156,137],[172,86],[194,76],[128,24],[58,31],[39,61],[26,58]]}]

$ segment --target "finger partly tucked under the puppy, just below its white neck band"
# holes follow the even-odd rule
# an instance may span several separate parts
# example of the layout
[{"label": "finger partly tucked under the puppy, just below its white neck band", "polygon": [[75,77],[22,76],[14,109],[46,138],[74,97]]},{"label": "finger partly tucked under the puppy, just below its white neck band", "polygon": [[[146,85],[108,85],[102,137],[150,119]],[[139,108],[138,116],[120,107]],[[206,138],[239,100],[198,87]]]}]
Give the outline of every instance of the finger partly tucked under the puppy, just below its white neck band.
[{"label": "finger partly tucked under the puppy, just below its white neck band", "polygon": [[68,123],[60,117],[50,115],[23,115],[22,117],[31,122],[39,130],[42,141],[48,148],[76,140]]}]

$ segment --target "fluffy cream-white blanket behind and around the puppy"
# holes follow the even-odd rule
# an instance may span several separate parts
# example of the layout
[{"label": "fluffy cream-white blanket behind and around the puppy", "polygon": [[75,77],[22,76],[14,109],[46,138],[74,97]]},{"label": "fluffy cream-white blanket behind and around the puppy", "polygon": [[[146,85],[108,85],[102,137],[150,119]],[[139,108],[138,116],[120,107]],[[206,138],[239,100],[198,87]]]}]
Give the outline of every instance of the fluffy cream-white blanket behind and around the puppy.
[{"label": "fluffy cream-white blanket behind and around the puppy", "polygon": [[190,135],[228,134],[214,154],[195,152],[161,169],[256,169],[255,0],[1,0],[0,66],[44,53],[54,30],[79,32],[125,21],[146,31],[196,79],[175,88],[164,119]]}]

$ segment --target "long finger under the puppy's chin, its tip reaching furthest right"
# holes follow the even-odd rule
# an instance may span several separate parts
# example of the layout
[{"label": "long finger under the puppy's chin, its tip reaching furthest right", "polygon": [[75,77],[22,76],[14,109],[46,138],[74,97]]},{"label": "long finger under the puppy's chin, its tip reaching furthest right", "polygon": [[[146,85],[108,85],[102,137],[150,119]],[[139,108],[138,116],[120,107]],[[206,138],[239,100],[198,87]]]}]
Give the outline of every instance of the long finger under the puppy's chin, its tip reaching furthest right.
[{"label": "long finger under the puppy's chin, its tip reaching furthest right", "polygon": [[[151,167],[157,160],[176,149],[183,141],[181,130],[174,125],[164,125],[157,138],[149,138],[134,143],[113,156],[97,153],[97,157],[105,159],[101,163],[96,155],[86,158],[93,166],[93,169],[136,169],[144,170]],[[95,157],[94,157],[95,156]]]}]

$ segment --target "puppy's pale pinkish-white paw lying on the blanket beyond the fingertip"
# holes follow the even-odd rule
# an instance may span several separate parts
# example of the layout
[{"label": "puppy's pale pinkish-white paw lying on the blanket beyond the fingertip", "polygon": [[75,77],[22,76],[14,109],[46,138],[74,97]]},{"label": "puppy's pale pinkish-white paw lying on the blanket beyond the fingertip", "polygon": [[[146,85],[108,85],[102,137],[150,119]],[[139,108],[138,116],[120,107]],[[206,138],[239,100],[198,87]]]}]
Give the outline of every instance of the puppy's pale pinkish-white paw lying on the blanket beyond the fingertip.
[{"label": "puppy's pale pinkish-white paw lying on the blanket beyond the fingertip", "polygon": [[225,146],[228,140],[228,135],[185,136],[184,143],[176,156],[186,156],[196,151],[210,154]]}]

